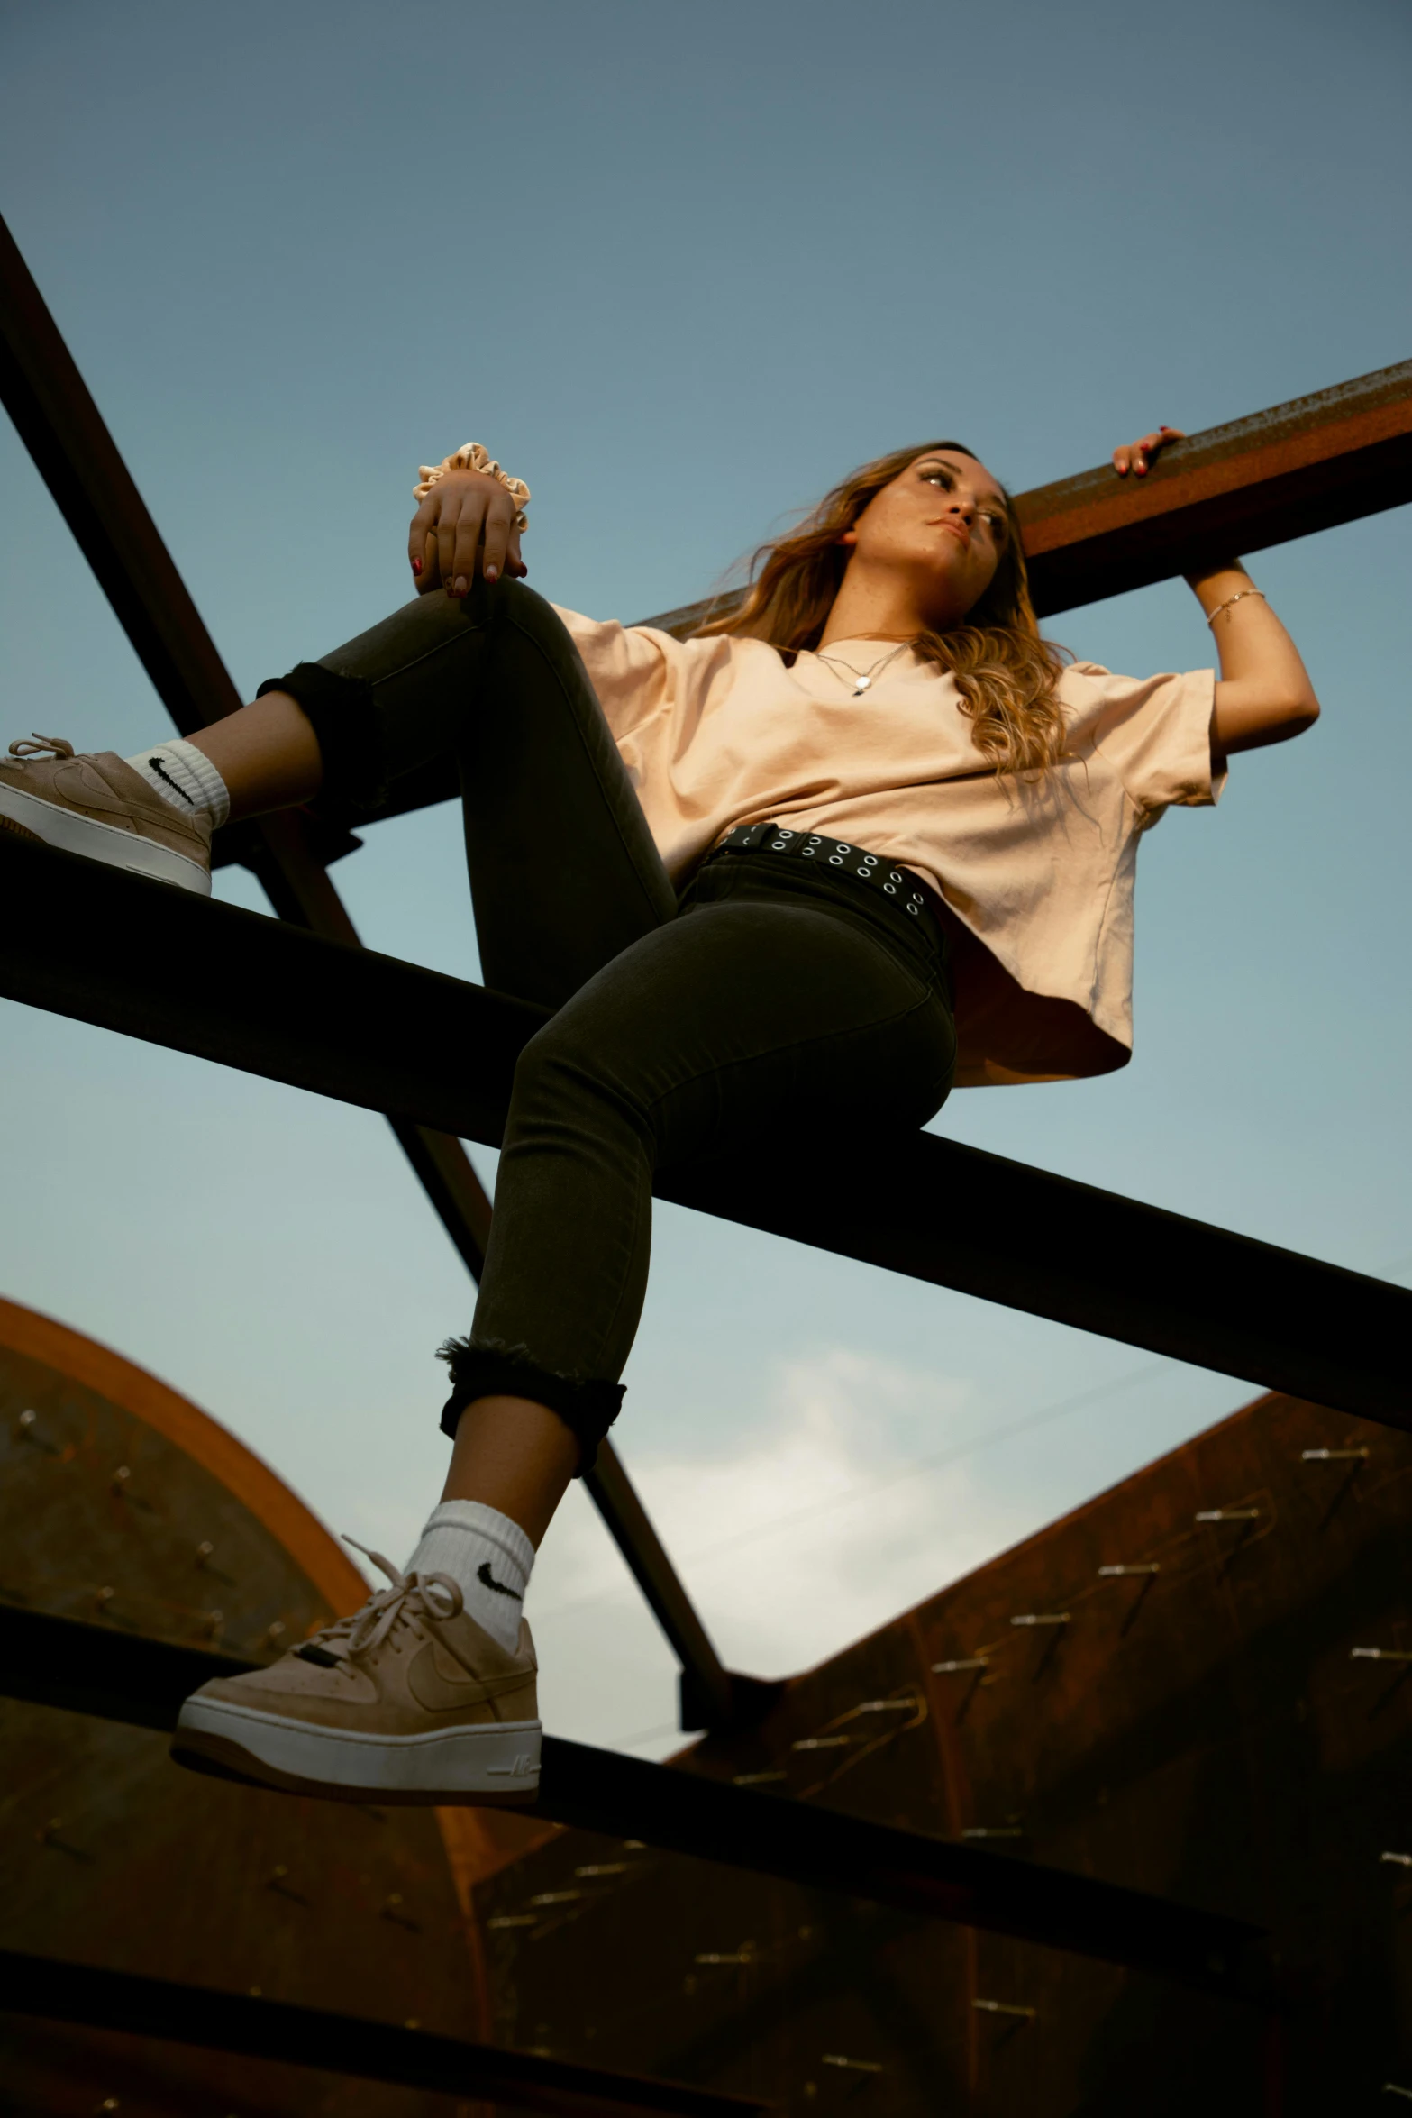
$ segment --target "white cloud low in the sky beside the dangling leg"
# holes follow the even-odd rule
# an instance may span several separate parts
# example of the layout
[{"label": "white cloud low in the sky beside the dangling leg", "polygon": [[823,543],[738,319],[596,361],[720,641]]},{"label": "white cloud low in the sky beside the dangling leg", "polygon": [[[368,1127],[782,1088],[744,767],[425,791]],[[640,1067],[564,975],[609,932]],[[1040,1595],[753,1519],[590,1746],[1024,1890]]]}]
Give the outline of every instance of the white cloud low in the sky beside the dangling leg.
[{"label": "white cloud low in the sky beside the dangling leg", "polygon": [[[631,1461],[730,1667],[807,1669],[1031,1527],[1022,1504],[978,1489],[961,1464],[906,1470],[957,1436],[967,1398],[965,1383],[830,1347],[777,1368],[754,1444]],[[673,1658],[580,1493],[544,1544],[531,1599],[548,1726],[622,1743],[671,1724]],[[639,1747],[663,1754],[673,1739]]]}]

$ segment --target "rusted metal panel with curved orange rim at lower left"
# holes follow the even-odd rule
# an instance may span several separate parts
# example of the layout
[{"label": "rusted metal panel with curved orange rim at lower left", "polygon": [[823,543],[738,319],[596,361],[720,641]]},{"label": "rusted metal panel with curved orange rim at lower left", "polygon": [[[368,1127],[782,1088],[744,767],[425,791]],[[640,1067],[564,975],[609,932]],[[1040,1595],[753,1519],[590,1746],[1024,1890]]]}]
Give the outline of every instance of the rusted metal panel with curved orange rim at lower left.
[{"label": "rusted metal panel with curved orange rim at lower left", "polygon": [[[258,1661],[364,1593],[301,1502],[197,1406],[51,1320],[0,1309],[8,1608]],[[17,1701],[0,1703],[0,1743],[4,1946],[483,2035],[474,1929],[436,1813],[337,1815],[203,1781],[174,1771],[163,1735]],[[521,1847],[533,1843],[521,1832]],[[193,2101],[174,2090],[163,2110],[241,2107],[233,2059],[188,2054],[169,2076],[150,2050],[17,2016],[0,2048],[25,2112],[93,2110],[106,2095],[152,2107],[178,2076]],[[74,2084],[91,2101],[74,2105]],[[445,2103],[337,2080],[315,2093],[275,2069],[243,2107],[430,2118]]]}]

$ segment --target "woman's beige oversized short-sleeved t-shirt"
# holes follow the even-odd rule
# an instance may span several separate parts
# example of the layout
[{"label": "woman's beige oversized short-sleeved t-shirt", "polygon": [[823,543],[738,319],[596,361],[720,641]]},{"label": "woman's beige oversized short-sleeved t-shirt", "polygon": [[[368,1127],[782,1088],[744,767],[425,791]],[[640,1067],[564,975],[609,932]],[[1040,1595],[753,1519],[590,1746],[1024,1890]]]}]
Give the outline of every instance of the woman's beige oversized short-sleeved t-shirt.
[{"label": "woman's beige oversized short-sleeved t-shirt", "polygon": [[1133,1048],[1137,841],[1171,803],[1213,803],[1215,674],[1058,684],[1065,758],[997,777],[955,680],[910,648],[853,697],[879,640],[790,667],[762,640],[673,640],[559,610],[673,881],[735,824],[862,845],[940,894],[957,974],[957,1084],[1071,1080]]}]

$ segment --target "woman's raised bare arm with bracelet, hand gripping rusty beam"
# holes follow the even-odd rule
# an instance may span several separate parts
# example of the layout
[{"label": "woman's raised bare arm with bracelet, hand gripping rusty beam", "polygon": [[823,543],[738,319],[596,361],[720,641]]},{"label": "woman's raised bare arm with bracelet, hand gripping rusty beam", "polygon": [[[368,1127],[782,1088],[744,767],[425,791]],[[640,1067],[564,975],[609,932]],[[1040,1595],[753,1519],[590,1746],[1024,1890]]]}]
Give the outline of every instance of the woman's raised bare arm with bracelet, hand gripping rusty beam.
[{"label": "woman's raised bare arm with bracelet, hand gripping rusty beam", "polygon": [[[1185,441],[1181,428],[1154,428],[1126,449],[1114,449],[1114,470],[1120,479],[1128,470],[1143,479],[1171,441]],[[1308,669],[1241,561],[1211,559],[1185,580],[1211,621],[1221,665],[1211,716],[1213,754],[1228,758],[1232,750],[1260,750],[1313,729],[1319,701]]]}]

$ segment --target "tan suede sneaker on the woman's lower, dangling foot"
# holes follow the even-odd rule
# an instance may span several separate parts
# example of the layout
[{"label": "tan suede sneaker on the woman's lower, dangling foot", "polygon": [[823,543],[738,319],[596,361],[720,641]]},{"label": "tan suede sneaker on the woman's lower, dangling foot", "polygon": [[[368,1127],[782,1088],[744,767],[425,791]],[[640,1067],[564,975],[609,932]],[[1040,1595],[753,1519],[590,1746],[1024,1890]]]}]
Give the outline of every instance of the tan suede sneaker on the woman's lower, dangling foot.
[{"label": "tan suede sneaker on the woman's lower, dangling foot", "polygon": [[269,1669],[193,1692],[176,1762],[345,1802],[531,1802],[540,1709],[525,1620],[506,1654],[449,1574],[368,1559],[392,1588]]}]

